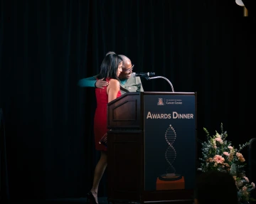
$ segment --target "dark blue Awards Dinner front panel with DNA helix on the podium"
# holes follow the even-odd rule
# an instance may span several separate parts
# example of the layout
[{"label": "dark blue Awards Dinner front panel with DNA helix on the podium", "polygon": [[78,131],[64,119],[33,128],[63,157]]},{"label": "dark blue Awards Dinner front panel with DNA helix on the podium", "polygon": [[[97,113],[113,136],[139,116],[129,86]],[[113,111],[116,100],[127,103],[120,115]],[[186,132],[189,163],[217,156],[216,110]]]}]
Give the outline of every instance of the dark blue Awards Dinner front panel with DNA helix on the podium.
[{"label": "dark blue Awards Dinner front panel with DNA helix on the podium", "polygon": [[144,190],[193,189],[196,94],[144,95]]}]

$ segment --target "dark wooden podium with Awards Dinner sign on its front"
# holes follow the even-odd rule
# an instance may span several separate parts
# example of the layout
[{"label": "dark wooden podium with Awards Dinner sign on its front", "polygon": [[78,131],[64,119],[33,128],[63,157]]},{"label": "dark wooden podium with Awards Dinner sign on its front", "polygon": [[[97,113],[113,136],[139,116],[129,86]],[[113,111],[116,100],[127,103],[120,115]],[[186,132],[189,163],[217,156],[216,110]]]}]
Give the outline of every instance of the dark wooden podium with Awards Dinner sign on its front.
[{"label": "dark wooden podium with Awards Dinner sign on its front", "polygon": [[129,92],[107,104],[107,199],[193,203],[196,92]]}]

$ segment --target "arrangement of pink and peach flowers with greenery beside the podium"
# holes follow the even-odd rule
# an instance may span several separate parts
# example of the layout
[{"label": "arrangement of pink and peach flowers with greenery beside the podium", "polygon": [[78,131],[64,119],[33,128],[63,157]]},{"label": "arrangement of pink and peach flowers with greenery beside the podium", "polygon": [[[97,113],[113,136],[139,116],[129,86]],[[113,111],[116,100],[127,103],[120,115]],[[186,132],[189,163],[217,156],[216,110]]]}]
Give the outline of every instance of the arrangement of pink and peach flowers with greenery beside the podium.
[{"label": "arrangement of pink and peach flowers with greenery beside the podium", "polygon": [[215,131],[215,135],[210,136],[208,130],[206,132],[207,141],[202,143],[201,170],[202,172],[217,170],[230,173],[235,179],[238,188],[239,203],[250,203],[255,200],[251,198],[250,193],[255,189],[255,183],[250,183],[245,176],[245,158],[240,151],[249,143],[240,144],[239,149],[235,147],[226,138],[227,131],[223,131],[223,124],[220,125],[221,133]]}]

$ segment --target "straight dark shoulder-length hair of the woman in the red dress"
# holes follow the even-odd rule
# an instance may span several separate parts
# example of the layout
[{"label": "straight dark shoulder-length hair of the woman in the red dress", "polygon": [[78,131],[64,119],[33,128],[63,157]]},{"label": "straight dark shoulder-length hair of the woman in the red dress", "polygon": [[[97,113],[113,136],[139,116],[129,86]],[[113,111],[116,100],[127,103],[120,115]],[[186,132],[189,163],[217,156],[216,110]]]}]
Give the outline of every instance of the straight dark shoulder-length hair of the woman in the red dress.
[{"label": "straight dark shoulder-length hair of the woman in the red dress", "polygon": [[102,64],[100,65],[100,74],[98,75],[99,79],[104,78],[112,78],[118,80],[117,77],[117,69],[119,63],[122,62],[122,58],[119,57],[119,55],[115,53],[110,53],[105,56],[104,60],[102,61]]}]

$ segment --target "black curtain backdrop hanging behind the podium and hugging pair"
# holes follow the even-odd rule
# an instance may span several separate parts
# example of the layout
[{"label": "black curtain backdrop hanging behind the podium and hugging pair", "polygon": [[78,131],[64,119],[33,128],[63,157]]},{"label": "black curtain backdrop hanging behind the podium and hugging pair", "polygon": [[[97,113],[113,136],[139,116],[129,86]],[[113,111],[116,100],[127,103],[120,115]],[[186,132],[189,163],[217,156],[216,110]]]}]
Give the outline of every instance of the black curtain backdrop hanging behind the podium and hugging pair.
[{"label": "black curtain backdrop hanging behind the podium and hugging pair", "polygon": [[[233,144],[255,137],[255,20],[235,0],[0,1],[0,107],[11,199],[78,198],[99,154],[95,93],[81,88],[108,51],[134,72],[198,93],[198,139],[220,123]],[[148,92],[171,92],[163,79]],[[200,145],[198,144],[198,148]],[[200,154],[200,151],[198,151]],[[100,196],[106,195],[106,175]]]}]

